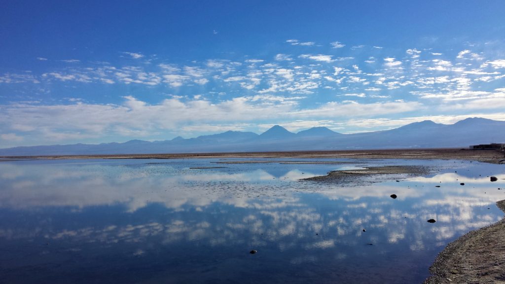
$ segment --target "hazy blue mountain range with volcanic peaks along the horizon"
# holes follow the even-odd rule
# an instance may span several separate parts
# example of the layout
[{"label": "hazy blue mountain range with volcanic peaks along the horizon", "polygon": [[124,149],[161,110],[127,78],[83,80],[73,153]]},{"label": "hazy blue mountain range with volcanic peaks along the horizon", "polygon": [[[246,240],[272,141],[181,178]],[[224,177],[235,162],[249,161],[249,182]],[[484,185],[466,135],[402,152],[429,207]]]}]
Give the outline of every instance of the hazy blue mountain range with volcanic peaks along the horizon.
[{"label": "hazy blue mountain range with volcanic peaks along the horizon", "polygon": [[455,124],[440,124],[425,120],[390,130],[354,134],[342,134],[326,127],[293,133],[275,125],[261,134],[226,131],[152,142],[130,140],[125,143],[14,147],[0,149],[0,156],[468,148],[489,143],[505,143],[505,121],[475,117]]}]

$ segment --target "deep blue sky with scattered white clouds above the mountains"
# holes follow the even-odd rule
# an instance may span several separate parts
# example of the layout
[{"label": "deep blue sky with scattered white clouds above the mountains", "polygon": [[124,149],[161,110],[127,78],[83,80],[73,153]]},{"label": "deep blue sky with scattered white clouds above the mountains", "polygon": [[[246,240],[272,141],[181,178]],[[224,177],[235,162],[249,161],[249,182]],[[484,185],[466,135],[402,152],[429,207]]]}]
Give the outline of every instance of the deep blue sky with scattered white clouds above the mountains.
[{"label": "deep blue sky with scattered white clouds above the mountains", "polygon": [[0,148],[505,120],[503,1],[6,1]]}]

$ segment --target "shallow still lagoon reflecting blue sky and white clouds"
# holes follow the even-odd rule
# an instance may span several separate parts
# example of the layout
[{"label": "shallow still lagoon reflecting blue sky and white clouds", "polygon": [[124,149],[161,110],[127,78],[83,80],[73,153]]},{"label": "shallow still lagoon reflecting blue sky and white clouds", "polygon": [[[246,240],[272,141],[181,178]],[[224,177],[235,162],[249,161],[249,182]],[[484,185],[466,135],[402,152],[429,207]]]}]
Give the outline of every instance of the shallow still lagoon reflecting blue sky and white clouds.
[{"label": "shallow still lagoon reflecting blue sky and white clouds", "polygon": [[[299,180],[365,165],[432,171]],[[421,283],[449,242],[502,218],[504,171],[426,160],[2,162],[0,274],[9,283]]]}]

